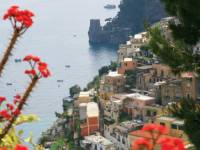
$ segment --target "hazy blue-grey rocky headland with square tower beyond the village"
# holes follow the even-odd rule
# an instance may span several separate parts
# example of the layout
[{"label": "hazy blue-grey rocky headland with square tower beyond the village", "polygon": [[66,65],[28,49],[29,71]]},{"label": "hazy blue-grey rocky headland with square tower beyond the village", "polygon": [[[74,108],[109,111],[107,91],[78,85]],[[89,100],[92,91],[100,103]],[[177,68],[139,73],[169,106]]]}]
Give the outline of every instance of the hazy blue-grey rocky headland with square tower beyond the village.
[{"label": "hazy blue-grey rocky headland with square tower beyond the village", "polygon": [[101,26],[100,21],[92,19],[88,32],[91,44],[120,44],[130,35],[144,30],[144,22],[150,24],[165,17],[160,0],[123,0],[115,18]]}]

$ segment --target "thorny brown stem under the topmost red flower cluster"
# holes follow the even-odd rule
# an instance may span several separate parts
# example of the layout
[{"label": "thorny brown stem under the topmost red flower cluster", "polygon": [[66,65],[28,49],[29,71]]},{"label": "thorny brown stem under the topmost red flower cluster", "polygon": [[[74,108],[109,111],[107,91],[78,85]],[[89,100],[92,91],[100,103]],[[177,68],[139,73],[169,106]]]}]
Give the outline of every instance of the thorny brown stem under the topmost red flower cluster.
[{"label": "thorny brown stem under the topmost red flower cluster", "polygon": [[12,38],[9,42],[9,45],[8,47],[6,48],[5,50],[5,53],[3,55],[3,58],[0,62],[0,76],[2,75],[2,72],[3,72],[3,69],[4,69],[4,66],[6,65],[8,59],[9,59],[9,56],[11,55],[11,52],[12,52],[12,49],[14,48],[16,42],[17,42],[17,39],[18,37],[20,37],[20,31],[17,30],[17,29],[14,29],[14,32],[13,32],[13,35],[12,35]]}]

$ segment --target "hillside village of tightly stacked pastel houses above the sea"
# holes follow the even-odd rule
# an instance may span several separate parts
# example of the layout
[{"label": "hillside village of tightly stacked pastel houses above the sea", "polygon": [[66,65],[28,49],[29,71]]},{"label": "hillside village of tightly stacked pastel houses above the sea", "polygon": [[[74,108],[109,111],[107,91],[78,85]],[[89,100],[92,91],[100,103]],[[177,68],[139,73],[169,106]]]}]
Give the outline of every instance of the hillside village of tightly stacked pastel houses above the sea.
[{"label": "hillside village of tightly stacked pastel houses above the sea", "polygon": [[[169,21],[163,18],[163,35],[172,40]],[[168,108],[181,98],[200,99],[200,82],[194,72],[175,75],[148,49],[147,32],[130,37],[119,46],[118,67],[101,76],[98,88],[81,91],[72,101],[63,100],[64,113],[54,127],[43,134],[48,147],[55,136],[70,137],[75,145],[86,150],[130,150],[138,138],[150,138],[140,130],[147,123],[169,128],[166,137],[183,139],[191,144],[183,132],[184,120],[173,117]],[[200,52],[199,44],[194,53]],[[59,134],[58,134],[59,133]],[[51,139],[52,138],[52,139]]]}]

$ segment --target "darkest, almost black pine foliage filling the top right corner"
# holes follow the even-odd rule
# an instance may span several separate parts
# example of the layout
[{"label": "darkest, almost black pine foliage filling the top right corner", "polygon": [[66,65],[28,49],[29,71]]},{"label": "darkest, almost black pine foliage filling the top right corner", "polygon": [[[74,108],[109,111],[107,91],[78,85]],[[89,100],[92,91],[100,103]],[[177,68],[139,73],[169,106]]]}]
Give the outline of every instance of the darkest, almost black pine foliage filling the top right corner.
[{"label": "darkest, almost black pine foliage filling the top right corner", "polygon": [[200,38],[199,0],[162,0],[167,12],[178,17],[180,24],[172,22],[173,37],[189,45],[195,45]]}]

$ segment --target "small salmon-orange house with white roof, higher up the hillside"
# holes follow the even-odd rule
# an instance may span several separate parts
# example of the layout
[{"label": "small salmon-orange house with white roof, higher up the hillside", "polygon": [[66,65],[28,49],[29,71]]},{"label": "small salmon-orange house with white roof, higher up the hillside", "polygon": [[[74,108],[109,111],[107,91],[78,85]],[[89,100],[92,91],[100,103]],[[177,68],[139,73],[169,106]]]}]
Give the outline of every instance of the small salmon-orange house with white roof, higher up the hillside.
[{"label": "small salmon-orange house with white roof, higher up the hillside", "polygon": [[120,63],[118,73],[124,74],[126,71],[134,70],[136,67],[137,63],[132,58],[124,58],[124,60]]}]

